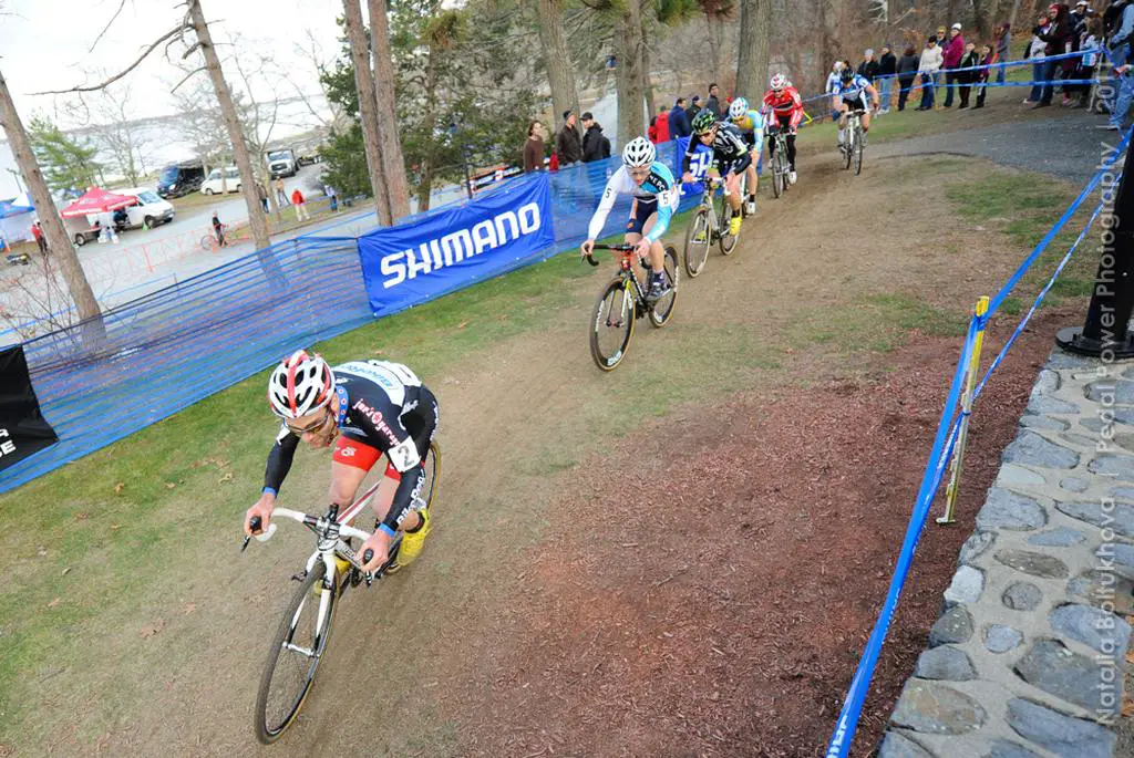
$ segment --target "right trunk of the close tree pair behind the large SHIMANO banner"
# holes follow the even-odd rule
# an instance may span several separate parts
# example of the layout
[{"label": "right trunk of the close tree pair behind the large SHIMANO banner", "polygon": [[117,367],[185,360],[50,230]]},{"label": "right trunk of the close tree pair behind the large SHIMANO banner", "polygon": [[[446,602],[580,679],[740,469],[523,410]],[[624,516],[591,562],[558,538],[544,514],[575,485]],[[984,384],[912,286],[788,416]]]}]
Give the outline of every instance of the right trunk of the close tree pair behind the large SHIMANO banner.
[{"label": "right trunk of the close tree pair behind the large SHIMANO banner", "polygon": [[382,140],[382,168],[386,171],[390,213],[398,220],[409,215],[409,184],[406,179],[406,159],[401,153],[401,137],[398,134],[390,19],[386,16],[386,0],[370,0],[370,40],[374,57],[374,90],[378,102],[378,136]]}]

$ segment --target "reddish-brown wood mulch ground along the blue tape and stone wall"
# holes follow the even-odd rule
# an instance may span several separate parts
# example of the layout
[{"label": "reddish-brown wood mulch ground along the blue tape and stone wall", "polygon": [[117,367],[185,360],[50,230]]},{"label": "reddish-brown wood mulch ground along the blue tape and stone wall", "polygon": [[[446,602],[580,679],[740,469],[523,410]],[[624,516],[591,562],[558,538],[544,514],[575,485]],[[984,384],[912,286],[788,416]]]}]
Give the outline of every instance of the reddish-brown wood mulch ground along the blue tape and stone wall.
[{"label": "reddish-brown wood mulch ground along the blue tape and stone wall", "polygon": [[[923,535],[855,755],[877,746],[1052,335],[1076,318],[1041,314],[982,395],[960,521]],[[915,334],[873,380],[677,414],[581,469],[500,619],[491,670],[451,695],[460,755],[822,755],[958,349]]]}]

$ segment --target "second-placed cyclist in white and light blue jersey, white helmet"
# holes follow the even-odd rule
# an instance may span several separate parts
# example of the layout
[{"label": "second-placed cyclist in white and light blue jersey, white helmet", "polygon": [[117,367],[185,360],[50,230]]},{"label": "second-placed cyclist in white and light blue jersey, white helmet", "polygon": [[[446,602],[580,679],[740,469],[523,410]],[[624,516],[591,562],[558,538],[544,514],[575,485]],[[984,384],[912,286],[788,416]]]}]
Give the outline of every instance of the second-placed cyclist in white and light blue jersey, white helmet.
[{"label": "second-placed cyclist in white and light blue jersey, white helmet", "polygon": [[650,259],[648,297],[651,300],[657,300],[669,291],[665,276],[666,249],[661,246],[661,236],[669,229],[669,220],[680,201],[674,172],[657,157],[653,143],[645,137],[635,137],[626,144],[623,148],[623,165],[607,182],[599,207],[591,218],[586,241],[582,245],[583,255],[590,255],[615,201],[619,195],[632,195],[634,205],[626,224],[626,242],[637,247],[638,257]]}]

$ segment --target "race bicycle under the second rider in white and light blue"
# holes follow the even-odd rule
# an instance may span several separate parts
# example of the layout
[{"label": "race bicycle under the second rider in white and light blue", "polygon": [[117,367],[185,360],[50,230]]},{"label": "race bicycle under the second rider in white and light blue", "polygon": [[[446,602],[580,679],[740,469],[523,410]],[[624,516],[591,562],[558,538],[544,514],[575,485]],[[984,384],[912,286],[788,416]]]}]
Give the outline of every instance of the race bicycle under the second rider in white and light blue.
[{"label": "race bicycle under the second rider in white and light blue", "polygon": [[[650,317],[650,325],[661,329],[669,323],[677,305],[677,250],[666,246],[666,283],[669,291],[654,301],[646,298],[646,287],[634,273],[637,257],[633,245],[595,245],[595,250],[621,253],[618,274],[611,279],[594,304],[594,326],[591,330],[591,357],[604,372],[613,371],[626,357],[634,322]],[[592,255],[586,256],[592,266],[600,263]],[[649,270],[649,264],[642,265]]]}]

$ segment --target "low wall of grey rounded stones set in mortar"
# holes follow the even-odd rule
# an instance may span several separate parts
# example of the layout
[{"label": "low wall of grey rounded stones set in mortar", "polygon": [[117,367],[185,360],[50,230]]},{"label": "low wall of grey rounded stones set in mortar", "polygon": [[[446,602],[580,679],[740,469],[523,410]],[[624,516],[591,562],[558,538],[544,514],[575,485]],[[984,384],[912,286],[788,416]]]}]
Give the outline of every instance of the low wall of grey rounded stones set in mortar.
[{"label": "low wall of grey rounded stones set in mortar", "polygon": [[1057,350],[880,758],[1114,756],[1132,591],[1134,365]]}]

